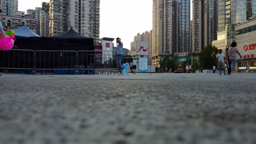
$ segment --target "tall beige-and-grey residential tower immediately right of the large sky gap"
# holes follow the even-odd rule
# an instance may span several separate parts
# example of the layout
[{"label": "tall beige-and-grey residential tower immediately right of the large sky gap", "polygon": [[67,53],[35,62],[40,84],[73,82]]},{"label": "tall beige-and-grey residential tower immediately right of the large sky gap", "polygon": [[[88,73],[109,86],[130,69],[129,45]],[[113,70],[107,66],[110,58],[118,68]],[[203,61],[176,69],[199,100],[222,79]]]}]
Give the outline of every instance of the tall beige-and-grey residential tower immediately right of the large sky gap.
[{"label": "tall beige-and-grey residential tower immediately right of the large sky gap", "polygon": [[188,0],[153,0],[153,65],[176,52],[190,51],[190,2]]}]

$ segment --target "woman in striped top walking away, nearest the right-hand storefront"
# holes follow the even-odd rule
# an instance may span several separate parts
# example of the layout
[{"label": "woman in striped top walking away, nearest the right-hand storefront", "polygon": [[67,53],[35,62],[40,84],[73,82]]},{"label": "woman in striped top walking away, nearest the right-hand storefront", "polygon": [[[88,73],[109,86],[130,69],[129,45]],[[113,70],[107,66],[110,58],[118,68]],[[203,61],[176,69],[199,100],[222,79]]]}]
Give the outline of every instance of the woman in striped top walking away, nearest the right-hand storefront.
[{"label": "woman in striped top walking away, nearest the right-hand storefront", "polygon": [[229,47],[228,50],[228,58],[230,59],[231,62],[231,73],[230,75],[235,75],[236,73],[236,57],[237,54],[242,58],[241,53],[238,51],[238,48],[236,47],[237,44],[235,41],[233,41]]}]

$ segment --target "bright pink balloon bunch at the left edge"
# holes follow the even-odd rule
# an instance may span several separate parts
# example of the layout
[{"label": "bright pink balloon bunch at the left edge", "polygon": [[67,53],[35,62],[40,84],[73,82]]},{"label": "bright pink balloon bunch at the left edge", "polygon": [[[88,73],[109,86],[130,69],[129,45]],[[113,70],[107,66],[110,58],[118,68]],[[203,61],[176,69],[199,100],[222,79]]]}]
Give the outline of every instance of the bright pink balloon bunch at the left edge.
[{"label": "bright pink balloon bunch at the left edge", "polygon": [[[11,48],[13,48],[14,45],[14,35],[6,35],[4,30],[3,30],[3,26],[2,26],[2,22],[0,22],[0,32],[2,34],[2,37],[0,38],[0,49],[2,50],[10,50]],[[7,32],[8,33],[8,32]]]}]

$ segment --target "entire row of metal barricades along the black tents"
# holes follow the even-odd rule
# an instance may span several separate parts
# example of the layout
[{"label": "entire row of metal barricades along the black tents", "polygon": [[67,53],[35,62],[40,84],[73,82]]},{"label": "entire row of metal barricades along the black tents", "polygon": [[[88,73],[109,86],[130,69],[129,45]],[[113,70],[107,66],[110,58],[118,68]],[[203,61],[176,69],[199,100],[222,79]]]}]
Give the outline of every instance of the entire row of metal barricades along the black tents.
[{"label": "entire row of metal barricades along the black tents", "polygon": [[31,70],[50,74],[113,74],[116,51],[20,50],[0,51],[0,70]]}]

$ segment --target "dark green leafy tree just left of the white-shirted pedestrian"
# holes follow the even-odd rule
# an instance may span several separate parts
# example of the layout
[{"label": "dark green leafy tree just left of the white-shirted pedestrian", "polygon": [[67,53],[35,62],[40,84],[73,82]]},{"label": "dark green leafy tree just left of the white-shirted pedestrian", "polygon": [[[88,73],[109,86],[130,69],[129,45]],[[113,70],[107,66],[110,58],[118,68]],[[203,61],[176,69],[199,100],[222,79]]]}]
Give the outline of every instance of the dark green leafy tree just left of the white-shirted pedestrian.
[{"label": "dark green leafy tree just left of the white-shirted pedestrian", "polygon": [[215,46],[207,45],[202,52],[199,53],[200,65],[204,69],[211,69],[215,65],[218,49]]}]

